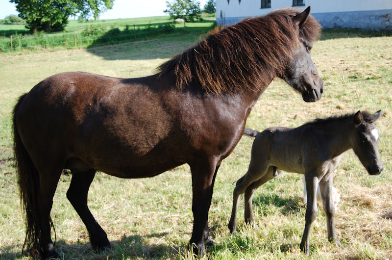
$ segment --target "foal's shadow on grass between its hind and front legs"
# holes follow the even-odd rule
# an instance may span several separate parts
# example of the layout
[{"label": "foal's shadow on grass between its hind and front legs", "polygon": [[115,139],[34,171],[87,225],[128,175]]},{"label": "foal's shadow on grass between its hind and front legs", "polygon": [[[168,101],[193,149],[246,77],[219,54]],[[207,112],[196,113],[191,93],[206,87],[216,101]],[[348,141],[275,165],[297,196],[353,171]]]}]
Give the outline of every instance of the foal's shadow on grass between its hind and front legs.
[{"label": "foal's shadow on grass between its hind and front legs", "polygon": [[281,198],[276,194],[253,197],[252,204],[260,208],[265,208],[269,205],[275,206],[276,208],[280,208],[280,211],[284,215],[290,215],[292,213],[299,212],[301,208],[306,208],[306,204],[303,202],[303,199],[298,196]]}]

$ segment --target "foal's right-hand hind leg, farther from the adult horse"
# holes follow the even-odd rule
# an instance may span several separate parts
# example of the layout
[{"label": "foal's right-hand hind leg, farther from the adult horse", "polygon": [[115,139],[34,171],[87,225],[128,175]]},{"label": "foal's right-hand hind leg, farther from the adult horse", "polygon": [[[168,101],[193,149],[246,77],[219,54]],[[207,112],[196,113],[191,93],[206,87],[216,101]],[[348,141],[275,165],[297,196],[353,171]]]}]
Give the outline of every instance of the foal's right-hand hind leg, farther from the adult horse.
[{"label": "foal's right-hand hind leg, farther from the adult horse", "polygon": [[252,198],[253,193],[256,191],[258,187],[263,185],[264,183],[270,181],[271,179],[275,178],[275,171],[274,167],[270,166],[267,170],[266,175],[264,175],[259,180],[252,182],[246,190],[245,190],[245,209],[244,209],[244,216],[245,216],[245,223],[251,224],[253,222],[253,213],[252,213]]}]

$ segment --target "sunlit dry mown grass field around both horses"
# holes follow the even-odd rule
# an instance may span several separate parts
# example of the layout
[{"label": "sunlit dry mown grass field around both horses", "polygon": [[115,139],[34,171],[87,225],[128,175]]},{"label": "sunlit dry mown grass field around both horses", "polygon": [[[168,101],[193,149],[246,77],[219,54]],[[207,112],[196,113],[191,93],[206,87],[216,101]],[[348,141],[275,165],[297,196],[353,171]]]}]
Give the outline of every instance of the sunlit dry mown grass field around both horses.
[{"label": "sunlit dry mown grass field around both horses", "polygon": [[[313,59],[325,80],[322,99],[304,103],[282,80],[261,96],[247,126],[299,126],[316,117],[359,109],[383,116],[379,151],[380,176],[369,176],[352,151],[335,171],[343,200],[336,215],[343,248],[327,240],[319,206],[310,238],[311,259],[392,258],[392,37],[364,37],[359,32],[327,31],[314,44]],[[12,155],[11,111],[16,99],[40,80],[64,71],[86,71],[112,77],[150,75],[157,65],[192,46],[197,35],[123,43],[96,48],[0,55],[0,259],[22,259],[23,213]],[[247,169],[252,139],[244,137],[223,160],[215,182],[209,225],[215,241],[204,259],[308,259],[299,250],[305,223],[302,176],[284,173],[260,187],[253,198],[255,223],[244,224],[239,208],[238,232],[227,229],[235,182]],[[191,259],[191,175],[187,165],[150,179],[123,180],[98,173],[89,206],[113,248],[93,251],[86,229],[66,198],[71,176],[58,183],[51,217],[56,249],[64,259]],[[54,238],[54,234],[52,236]]]}]

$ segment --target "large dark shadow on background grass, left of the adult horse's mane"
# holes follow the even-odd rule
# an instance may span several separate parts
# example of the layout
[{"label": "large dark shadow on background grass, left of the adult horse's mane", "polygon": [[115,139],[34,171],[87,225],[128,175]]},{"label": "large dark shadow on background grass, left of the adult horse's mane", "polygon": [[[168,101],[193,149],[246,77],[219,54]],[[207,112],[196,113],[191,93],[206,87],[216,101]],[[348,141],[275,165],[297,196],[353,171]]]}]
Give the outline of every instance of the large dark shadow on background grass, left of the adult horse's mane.
[{"label": "large dark shadow on background grass, left of the adult horse's mane", "polygon": [[[198,23],[207,23],[208,26],[198,26]],[[178,51],[171,51],[176,40],[178,45],[184,41],[195,41],[197,37],[214,27],[215,22],[202,21],[192,23],[192,27],[186,27],[185,31],[183,27],[175,27],[168,23],[138,25],[136,30],[133,26],[124,30],[113,28],[92,41],[87,51],[106,60],[166,59],[178,54]]]}]

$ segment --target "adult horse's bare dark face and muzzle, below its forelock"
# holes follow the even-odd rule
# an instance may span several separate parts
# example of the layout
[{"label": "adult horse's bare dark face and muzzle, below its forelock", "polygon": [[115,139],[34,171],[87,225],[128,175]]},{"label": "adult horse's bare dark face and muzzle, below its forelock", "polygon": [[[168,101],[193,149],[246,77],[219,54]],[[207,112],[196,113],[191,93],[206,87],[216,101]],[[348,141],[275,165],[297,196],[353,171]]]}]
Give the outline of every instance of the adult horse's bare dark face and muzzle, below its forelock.
[{"label": "adult horse's bare dark face and muzzle, below its forelock", "polygon": [[316,102],[321,99],[324,88],[324,81],[319,76],[310,56],[311,49],[312,44],[302,40],[289,61],[283,77],[290,86],[302,94],[305,102]]}]

